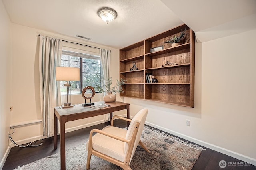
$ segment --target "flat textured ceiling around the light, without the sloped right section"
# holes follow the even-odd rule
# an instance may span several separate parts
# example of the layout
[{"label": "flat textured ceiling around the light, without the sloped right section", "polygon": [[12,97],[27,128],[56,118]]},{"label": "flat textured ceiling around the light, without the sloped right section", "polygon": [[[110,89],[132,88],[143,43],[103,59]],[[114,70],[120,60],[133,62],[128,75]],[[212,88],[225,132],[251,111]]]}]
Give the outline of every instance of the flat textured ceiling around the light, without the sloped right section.
[{"label": "flat textured ceiling around the light, without the sloped right section", "polygon": [[[160,0],[3,0],[11,22],[122,48],[183,22]],[[113,8],[106,24],[99,8]]]}]

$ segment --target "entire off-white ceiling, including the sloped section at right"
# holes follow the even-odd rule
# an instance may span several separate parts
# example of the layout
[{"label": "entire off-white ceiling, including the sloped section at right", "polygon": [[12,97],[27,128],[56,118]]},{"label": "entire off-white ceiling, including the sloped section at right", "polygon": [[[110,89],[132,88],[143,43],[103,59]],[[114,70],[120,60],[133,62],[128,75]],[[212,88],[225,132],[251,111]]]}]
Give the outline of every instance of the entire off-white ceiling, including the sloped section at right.
[{"label": "entire off-white ceiling, including the sloped section at right", "polygon": [[[120,49],[186,23],[200,42],[256,29],[256,0],[2,0],[11,22]],[[101,7],[116,10],[106,24]],[[218,32],[218,34],[216,34]]]}]

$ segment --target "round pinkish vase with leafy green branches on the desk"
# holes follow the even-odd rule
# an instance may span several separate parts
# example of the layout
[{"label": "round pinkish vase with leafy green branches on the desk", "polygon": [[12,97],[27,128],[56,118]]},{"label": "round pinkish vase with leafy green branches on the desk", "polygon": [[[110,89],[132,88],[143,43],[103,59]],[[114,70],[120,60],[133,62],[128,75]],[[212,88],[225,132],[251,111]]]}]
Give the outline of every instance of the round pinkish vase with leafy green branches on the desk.
[{"label": "round pinkish vase with leafy green branches on the desk", "polygon": [[122,85],[126,82],[124,79],[120,79],[120,81],[117,79],[116,84],[112,86],[112,77],[105,79],[101,77],[100,75],[97,75],[97,79],[100,81],[100,84],[97,83],[95,85],[96,91],[99,93],[107,92],[106,95],[104,95],[103,100],[105,102],[114,102],[116,101],[116,93],[124,92],[122,89]]}]

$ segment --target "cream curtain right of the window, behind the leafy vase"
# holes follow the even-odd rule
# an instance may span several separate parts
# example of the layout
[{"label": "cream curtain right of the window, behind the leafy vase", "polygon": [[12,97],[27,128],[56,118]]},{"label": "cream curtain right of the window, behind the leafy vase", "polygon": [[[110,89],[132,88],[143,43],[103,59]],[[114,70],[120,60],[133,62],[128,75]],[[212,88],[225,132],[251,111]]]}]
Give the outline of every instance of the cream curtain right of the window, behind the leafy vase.
[{"label": "cream curtain right of the window, behind the leafy vase", "polygon": [[[110,78],[110,50],[100,49],[101,72],[104,79]],[[104,115],[104,121],[109,121],[109,114]]]}]

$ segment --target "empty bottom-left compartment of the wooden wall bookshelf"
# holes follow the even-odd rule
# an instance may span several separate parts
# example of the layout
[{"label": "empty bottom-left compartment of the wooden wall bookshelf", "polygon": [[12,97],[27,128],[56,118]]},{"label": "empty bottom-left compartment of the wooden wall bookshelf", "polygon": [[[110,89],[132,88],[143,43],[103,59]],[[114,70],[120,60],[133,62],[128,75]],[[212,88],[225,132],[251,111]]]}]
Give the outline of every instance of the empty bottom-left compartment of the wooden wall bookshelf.
[{"label": "empty bottom-left compartment of the wooden wall bookshelf", "polygon": [[124,84],[124,92],[120,93],[120,96],[125,97],[137,97],[144,99],[144,83],[142,84]]}]

